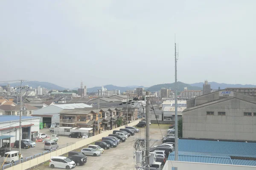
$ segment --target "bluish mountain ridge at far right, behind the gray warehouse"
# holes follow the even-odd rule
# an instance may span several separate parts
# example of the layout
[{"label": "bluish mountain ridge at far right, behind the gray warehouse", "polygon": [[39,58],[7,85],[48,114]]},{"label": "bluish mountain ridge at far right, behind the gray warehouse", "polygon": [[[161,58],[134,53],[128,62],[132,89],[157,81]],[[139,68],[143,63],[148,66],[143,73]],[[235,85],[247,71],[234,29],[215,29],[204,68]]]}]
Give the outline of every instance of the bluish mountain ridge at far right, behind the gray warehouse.
[{"label": "bluish mountain ridge at far right, behind the gray warehouse", "polygon": [[[255,88],[256,85],[241,85],[241,84],[225,84],[225,83],[218,83],[218,82],[208,82],[209,85],[211,85],[212,89],[218,89],[220,87],[221,89],[225,88]],[[198,83],[193,83],[189,84],[194,87],[202,87],[204,85],[204,82],[198,82]]]}]

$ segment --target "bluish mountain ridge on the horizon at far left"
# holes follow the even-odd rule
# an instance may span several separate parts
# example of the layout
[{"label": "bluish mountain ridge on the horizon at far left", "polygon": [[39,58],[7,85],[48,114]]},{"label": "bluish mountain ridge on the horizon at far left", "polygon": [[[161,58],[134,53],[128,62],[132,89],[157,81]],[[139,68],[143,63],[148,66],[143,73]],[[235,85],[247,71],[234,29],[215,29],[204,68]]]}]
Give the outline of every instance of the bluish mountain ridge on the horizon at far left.
[{"label": "bluish mountain ridge on the horizon at far left", "polygon": [[[7,85],[7,84],[8,83],[0,83],[0,85]],[[47,88],[49,90],[56,89],[56,90],[63,91],[67,89],[50,82],[25,81],[22,83],[22,85],[29,85],[29,87],[32,87],[32,88],[37,88],[38,86],[41,86],[41,88]],[[11,87],[20,86],[20,82],[10,83],[10,86]]]}]

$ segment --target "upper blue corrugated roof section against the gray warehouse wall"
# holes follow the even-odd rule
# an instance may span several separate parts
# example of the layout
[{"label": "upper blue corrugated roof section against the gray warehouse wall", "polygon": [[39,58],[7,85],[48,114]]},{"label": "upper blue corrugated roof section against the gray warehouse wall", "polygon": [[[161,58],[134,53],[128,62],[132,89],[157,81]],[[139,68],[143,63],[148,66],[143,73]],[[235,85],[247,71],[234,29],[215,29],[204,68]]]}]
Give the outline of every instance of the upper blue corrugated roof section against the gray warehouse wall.
[{"label": "upper blue corrugated roof section against the gray warehouse wall", "polygon": [[256,142],[179,139],[178,144],[179,151],[218,153],[226,156],[256,157]]}]

